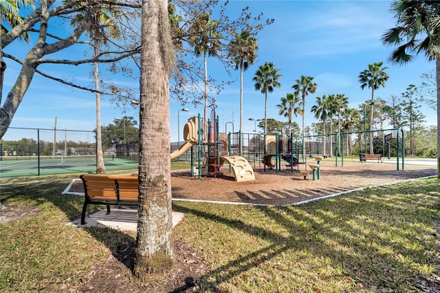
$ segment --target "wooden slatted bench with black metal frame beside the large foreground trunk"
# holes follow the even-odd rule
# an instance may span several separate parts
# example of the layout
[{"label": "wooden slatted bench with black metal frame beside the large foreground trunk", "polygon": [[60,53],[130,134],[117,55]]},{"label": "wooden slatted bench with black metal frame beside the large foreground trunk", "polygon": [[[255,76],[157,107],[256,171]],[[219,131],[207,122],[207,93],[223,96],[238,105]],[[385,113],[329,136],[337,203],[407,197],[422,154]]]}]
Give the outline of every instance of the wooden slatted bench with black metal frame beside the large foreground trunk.
[{"label": "wooden slatted bench with black metal frame beside the large foreground trunk", "polygon": [[139,182],[135,176],[120,175],[80,175],[84,184],[84,206],[81,213],[81,225],[85,224],[85,213],[89,204],[107,206],[137,206],[139,197]]}]

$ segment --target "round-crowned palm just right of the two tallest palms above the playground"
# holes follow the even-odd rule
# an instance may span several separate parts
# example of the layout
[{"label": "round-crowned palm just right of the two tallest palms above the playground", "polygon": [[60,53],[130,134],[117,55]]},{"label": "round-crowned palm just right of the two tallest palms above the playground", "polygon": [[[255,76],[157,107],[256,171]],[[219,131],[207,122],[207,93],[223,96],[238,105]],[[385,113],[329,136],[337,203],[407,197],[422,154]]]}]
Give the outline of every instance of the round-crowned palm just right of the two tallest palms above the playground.
[{"label": "round-crowned palm just right of the two tallest palms above the playground", "polygon": [[265,94],[264,102],[264,134],[267,133],[267,93],[272,93],[274,87],[281,87],[281,83],[278,83],[278,78],[282,75],[278,74],[280,69],[276,68],[274,63],[266,62],[264,65],[260,65],[259,69],[256,70],[254,78],[255,90],[261,91]]}]

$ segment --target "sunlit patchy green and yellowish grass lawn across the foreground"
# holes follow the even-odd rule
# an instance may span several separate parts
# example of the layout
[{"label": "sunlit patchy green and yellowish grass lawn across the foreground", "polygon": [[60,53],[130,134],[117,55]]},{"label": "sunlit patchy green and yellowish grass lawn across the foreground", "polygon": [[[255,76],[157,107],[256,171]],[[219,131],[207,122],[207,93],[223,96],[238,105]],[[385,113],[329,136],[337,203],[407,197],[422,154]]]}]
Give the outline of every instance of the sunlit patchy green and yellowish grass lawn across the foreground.
[{"label": "sunlit patchy green and yellowish grass lawn across the foreground", "polygon": [[[66,226],[83,206],[61,195],[69,182],[1,187],[3,204],[41,213],[0,224],[0,292],[67,292],[135,237]],[[420,292],[439,269],[439,199],[439,182],[426,179],[302,206],[173,202],[186,213],[174,234],[210,263],[203,292]]]}]

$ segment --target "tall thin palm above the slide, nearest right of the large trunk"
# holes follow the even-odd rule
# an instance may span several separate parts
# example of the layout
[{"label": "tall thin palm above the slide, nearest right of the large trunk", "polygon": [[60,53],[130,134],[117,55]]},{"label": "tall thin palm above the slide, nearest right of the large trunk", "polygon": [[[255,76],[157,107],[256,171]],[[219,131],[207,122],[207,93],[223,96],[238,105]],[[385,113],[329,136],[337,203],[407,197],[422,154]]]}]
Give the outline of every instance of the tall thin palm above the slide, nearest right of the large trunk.
[{"label": "tall thin palm above the slide, nearest right of the large trunk", "polygon": [[[192,24],[190,31],[192,31],[191,45],[194,46],[195,56],[199,57],[203,54],[203,65],[205,72],[205,91],[204,100],[205,106],[203,111],[203,119],[208,121],[208,56],[215,56],[221,49],[220,39],[223,38],[221,32],[217,30],[219,21],[211,20],[210,14],[199,14]],[[206,124],[207,127],[207,124]],[[205,128],[204,133],[208,133]]]}]

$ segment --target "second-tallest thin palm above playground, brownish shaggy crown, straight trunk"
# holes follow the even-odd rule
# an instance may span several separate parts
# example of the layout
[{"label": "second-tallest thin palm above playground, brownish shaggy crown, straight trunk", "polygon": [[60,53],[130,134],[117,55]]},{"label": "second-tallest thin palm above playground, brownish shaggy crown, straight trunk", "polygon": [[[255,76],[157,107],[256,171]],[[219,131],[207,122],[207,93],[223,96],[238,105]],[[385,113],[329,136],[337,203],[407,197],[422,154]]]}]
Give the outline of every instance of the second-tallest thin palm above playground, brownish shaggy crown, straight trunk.
[{"label": "second-tallest thin palm above playground, brownish shaggy crown, straight trunk", "polygon": [[[243,72],[248,70],[249,65],[253,65],[256,59],[256,38],[251,36],[249,30],[243,30],[240,34],[235,34],[235,40],[230,42],[229,56],[234,58],[235,69],[240,69],[240,131],[243,127]],[[240,144],[241,146],[241,144]]]}]

